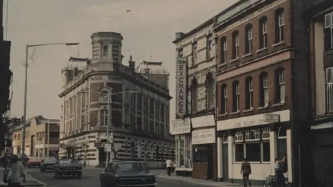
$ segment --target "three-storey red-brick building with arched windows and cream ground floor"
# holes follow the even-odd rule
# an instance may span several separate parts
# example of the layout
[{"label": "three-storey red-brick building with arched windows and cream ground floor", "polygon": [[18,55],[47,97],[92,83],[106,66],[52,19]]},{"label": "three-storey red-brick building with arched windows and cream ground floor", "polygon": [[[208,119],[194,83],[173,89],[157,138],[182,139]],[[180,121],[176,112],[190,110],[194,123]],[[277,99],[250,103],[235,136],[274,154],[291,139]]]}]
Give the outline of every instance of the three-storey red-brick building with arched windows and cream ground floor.
[{"label": "three-storey red-brick building with arched windows and cream ground floor", "polygon": [[[306,157],[304,129],[309,122],[309,63],[303,58],[300,10],[302,5],[288,0],[239,1],[216,17],[216,134],[222,181],[242,182],[244,158],[251,163],[253,185],[263,185],[275,173],[275,158],[286,157],[289,186],[300,179],[300,160],[295,158]],[[292,24],[296,20],[299,26]]]}]

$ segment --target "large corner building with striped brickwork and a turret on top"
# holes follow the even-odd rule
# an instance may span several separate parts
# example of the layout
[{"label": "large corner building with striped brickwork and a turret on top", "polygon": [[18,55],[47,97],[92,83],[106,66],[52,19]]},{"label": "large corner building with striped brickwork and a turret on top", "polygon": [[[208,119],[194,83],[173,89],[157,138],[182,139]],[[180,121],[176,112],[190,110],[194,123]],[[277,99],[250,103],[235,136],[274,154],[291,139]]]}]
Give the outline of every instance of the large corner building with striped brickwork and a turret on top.
[{"label": "large corner building with striped brickwork and a turret on top", "polygon": [[88,166],[104,164],[109,139],[111,159],[161,167],[174,149],[168,131],[169,73],[162,62],[135,67],[132,57],[124,66],[120,33],[94,33],[91,38],[92,60],[71,57],[62,71],[60,157],[80,157]]}]

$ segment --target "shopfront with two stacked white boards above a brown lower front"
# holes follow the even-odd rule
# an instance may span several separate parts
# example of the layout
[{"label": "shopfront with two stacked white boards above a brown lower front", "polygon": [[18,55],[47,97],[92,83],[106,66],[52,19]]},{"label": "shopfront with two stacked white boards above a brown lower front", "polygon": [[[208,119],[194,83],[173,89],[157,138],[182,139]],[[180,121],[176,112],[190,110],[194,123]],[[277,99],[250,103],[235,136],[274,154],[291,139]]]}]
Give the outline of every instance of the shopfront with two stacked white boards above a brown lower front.
[{"label": "shopfront with two stacked white boards above a brown lower front", "polygon": [[196,179],[213,179],[216,164],[216,142],[214,115],[191,118],[193,145],[192,177]]}]

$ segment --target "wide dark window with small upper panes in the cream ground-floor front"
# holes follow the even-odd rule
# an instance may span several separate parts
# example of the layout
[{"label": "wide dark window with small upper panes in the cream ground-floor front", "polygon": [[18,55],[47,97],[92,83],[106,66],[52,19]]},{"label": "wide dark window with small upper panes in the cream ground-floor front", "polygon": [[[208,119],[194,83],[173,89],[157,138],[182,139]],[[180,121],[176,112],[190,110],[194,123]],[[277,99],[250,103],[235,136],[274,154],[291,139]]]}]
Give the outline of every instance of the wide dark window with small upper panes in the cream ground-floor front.
[{"label": "wide dark window with small upper panes in the cream ground-floor front", "polygon": [[244,158],[253,162],[271,161],[269,128],[239,130],[234,134],[234,161]]}]

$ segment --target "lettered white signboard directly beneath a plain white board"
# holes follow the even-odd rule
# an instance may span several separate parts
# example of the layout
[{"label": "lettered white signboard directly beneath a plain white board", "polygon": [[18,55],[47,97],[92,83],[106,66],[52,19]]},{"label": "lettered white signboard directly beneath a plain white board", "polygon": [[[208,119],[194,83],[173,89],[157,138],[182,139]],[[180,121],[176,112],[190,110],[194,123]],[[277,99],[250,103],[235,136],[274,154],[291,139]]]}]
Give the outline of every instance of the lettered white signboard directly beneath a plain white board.
[{"label": "lettered white signboard directly beneath a plain white board", "polygon": [[192,131],[192,145],[215,143],[215,128]]}]

